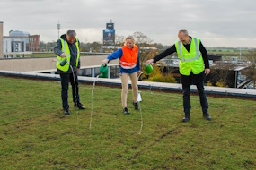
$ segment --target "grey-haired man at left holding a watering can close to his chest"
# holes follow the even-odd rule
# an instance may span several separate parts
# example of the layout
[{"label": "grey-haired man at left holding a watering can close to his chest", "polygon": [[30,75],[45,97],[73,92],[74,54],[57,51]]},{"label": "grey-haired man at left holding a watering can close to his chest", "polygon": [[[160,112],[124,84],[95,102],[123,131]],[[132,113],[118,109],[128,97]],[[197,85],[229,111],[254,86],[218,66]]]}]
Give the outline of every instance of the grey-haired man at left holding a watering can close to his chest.
[{"label": "grey-haired man at left holding a watering can close to his chest", "polygon": [[[79,109],[85,109],[80,103],[78,93],[77,71],[80,68],[80,58],[79,41],[75,37],[75,30],[67,30],[66,34],[57,40],[57,45],[54,47],[54,53],[57,55],[57,72],[60,74],[61,79],[62,106],[66,115],[70,115],[67,101],[69,81],[72,85],[74,106],[77,106]],[[65,63],[64,60],[66,60]]]}]

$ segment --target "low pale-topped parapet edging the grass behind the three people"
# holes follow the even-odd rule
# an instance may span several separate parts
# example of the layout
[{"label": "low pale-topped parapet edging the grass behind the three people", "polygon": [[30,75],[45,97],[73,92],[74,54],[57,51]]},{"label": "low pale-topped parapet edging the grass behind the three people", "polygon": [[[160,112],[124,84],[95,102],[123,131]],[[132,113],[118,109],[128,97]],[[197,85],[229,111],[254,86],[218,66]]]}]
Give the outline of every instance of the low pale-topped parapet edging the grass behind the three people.
[{"label": "low pale-topped parapet edging the grass behind the three people", "polygon": [[[14,76],[14,77],[23,77],[29,79],[40,79],[40,80],[53,80],[59,81],[59,74],[48,74],[48,73],[37,73],[37,72],[11,72],[11,71],[1,71],[0,76]],[[105,79],[105,78],[93,78],[93,77],[78,77],[79,82],[91,83],[93,84],[96,81],[97,85],[103,86],[115,86],[121,88],[120,79]],[[129,86],[131,86],[131,81],[128,81]],[[167,83],[167,82],[152,82],[152,81],[138,81],[137,82],[139,89],[152,89],[152,90],[163,90],[163,91],[172,91],[172,92],[182,92],[182,85],[176,83]],[[213,86],[205,87],[207,96],[221,96],[224,98],[251,98],[256,99],[256,90],[255,89],[235,89],[235,88],[219,88]],[[191,86],[191,92],[198,93],[197,87],[195,85]]]}]

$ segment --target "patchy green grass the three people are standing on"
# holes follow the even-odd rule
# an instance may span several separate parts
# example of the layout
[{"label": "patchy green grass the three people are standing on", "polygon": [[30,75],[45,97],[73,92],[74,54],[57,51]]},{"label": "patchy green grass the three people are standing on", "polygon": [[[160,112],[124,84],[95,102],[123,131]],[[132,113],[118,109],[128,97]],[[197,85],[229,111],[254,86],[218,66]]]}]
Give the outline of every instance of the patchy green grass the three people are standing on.
[{"label": "patchy green grass the three people are standing on", "polygon": [[[256,102],[210,98],[212,121],[191,96],[142,90],[143,115],[121,113],[121,89],[80,85],[85,111],[63,115],[60,84],[0,76],[0,169],[255,169]],[[71,89],[71,88],[70,88]],[[71,97],[71,90],[69,90]]]}]

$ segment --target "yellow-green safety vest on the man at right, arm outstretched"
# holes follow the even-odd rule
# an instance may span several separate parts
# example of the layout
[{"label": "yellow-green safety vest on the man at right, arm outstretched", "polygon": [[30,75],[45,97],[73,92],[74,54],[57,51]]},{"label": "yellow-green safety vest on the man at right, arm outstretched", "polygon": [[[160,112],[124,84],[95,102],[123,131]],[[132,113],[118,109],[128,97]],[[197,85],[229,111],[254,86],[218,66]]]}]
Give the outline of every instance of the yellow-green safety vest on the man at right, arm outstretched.
[{"label": "yellow-green safety vest on the man at right, arm outstretched", "polygon": [[204,61],[199,51],[199,44],[199,38],[191,38],[190,51],[188,52],[181,41],[175,43],[177,55],[180,58],[179,67],[182,75],[190,75],[191,71],[193,74],[199,74],[204,71]]}]

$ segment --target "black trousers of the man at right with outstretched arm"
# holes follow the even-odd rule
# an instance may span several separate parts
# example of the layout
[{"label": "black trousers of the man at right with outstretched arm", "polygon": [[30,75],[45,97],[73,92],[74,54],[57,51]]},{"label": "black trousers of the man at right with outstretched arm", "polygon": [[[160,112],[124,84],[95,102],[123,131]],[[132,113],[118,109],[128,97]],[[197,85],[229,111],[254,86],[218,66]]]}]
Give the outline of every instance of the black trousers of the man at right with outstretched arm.
[{"label": "black trousers of the man at right with outstretched arm", "polygon": [[190,73],[189,76],[181,75],[182,92],[183,92],[183,108],[186,117],[190,117],[190,85],[197,86],[199,91],[200,105],[204,115],[208,114],[208,102],[207,95],[204,88],[205,72],[199,74]]}]

